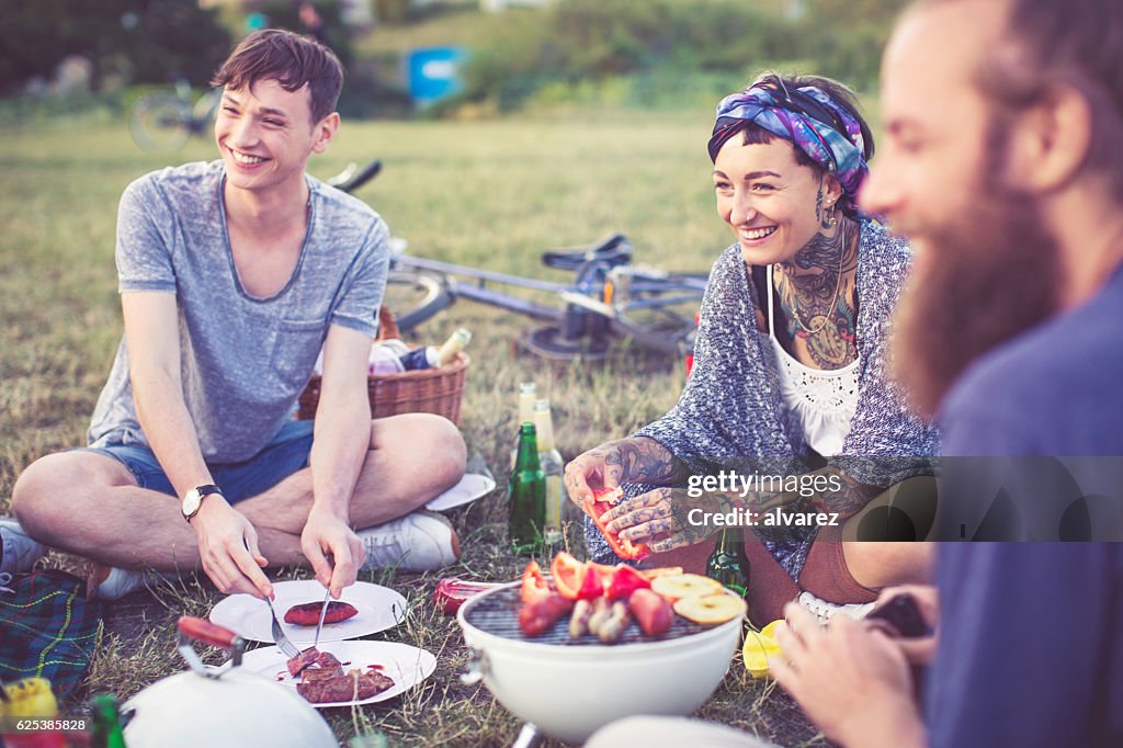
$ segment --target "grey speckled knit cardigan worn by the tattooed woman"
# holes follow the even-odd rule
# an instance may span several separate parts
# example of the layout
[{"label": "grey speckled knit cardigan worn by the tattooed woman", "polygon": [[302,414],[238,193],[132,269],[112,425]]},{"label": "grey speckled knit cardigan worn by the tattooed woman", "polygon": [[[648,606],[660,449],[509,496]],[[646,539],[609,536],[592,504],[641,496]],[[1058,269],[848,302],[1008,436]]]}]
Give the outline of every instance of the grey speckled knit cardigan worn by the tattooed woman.
[{"label": "grey speckled knit cardigan worn by the tattooed woman", "polygon": [[[931,473],[925,457],[939,451],[934,428],[904,404],[886,372],[889,316],[904,285],[911,250],[876,221],[859,222],[858,246],[858,404],[842,455],[831,456],[858,481],[887,487],[906,477]],[[733,245],[714,263],[702,300],[694,346],[694,370],[670,412],[640,429],[665,446],[693,473],[719,469],[742,474],[798,474],[809,469],[811,453],[798,418],[783,402],[775,352],[768,334],[758,330],[757,300],[741,249]],[[636,496],[654,486],[630,484]],[[758,529],[776,559],[796,578],[814,530]],[[595,526],[586,522],[586,545],[593,558],[614,556]]]}]

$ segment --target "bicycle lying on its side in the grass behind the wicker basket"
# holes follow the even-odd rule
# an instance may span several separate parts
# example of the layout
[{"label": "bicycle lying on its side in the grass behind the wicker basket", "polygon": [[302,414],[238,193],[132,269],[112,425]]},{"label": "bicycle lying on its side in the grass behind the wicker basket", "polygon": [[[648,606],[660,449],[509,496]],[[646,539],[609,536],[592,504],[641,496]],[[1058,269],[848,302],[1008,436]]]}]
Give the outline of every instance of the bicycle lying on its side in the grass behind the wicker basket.
[{"label": "bicycle lying on its side in the grass behind the wicker basket", "polygon": [[[353,192],[377,174],[372,166],[360,174],[353,168],[331,182]],[[523,348],[546,358],[603,358],[613,338],[678,357],[694,348],[695,312],[707,275],[633,264],[632,244],[622,234],[542,253],[546,267],[573,273],[568,283],[414,257],[407,254],[408,243],[400,237],[391,240],[391,248],[385,303],[403,332],[464,298],[547,322],[520,339]],[[496,290],[495,284],[545,293],[555,303]]]}]

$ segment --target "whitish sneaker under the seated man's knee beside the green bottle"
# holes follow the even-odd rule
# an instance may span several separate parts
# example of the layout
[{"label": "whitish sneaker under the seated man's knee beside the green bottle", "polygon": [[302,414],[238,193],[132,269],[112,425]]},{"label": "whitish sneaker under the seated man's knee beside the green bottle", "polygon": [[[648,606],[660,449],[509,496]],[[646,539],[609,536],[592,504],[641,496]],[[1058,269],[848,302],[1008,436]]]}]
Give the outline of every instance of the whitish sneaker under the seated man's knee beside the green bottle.
[{"label": "whitish sneaker under the seated man's knee beside the green bottle", "polygon": [[359,530],[358,537],[366,548],[364,571],[394,566],[403,572],[431,572],[460,557],[453,523],[423,509]]}]

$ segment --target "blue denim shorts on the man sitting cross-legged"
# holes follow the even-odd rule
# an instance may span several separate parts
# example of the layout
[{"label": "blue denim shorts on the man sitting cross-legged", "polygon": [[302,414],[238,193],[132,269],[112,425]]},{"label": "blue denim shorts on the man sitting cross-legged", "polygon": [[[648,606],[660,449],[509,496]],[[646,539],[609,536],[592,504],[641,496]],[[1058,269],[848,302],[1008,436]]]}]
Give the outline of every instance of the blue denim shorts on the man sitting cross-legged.
[{"label": "blue denim shorts on the man sitting cross-legged", "polygon": [[[129,468],[141,489],[176,495],[156,455],[147,447],[111,444],[80,449],[113,457]],[[264,449],[249,459],[241,463],[207,463],[207,467],[214,483],[222,489],[226,500],[232,504],[256,496],[296,471],[308,467],[311,450],[312,421],[290,421]]]}]

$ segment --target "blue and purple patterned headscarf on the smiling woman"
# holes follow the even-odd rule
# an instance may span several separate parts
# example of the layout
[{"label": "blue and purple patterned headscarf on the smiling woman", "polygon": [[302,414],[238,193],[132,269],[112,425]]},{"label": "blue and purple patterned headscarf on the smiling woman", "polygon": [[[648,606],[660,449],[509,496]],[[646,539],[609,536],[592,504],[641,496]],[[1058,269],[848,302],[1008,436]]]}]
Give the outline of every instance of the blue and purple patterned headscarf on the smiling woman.
[{"label": "blue and purple patterned headscarf on the smiling woman", "polygon": [[718,104],[718,120],[710,138],[710,161],[746,121],[789,140],[834,176],[842,185],[839,208],[847,216],[858,212],[858,188],[869,166],[861,125],[822,89],[805,85],[785,89],[774,81],[732,93]]}]

